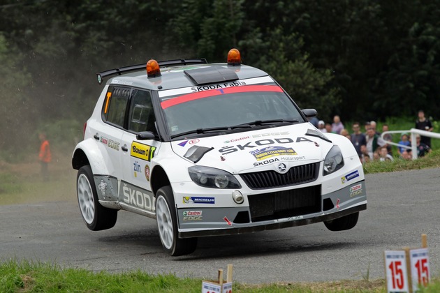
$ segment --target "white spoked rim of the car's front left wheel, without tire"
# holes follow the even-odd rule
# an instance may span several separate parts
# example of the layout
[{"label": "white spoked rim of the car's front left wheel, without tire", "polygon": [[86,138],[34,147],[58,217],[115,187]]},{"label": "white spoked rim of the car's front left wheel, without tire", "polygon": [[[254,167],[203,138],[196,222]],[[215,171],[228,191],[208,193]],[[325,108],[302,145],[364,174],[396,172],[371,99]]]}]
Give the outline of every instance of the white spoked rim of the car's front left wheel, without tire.
[{"label": "white spoked rim of the car's front left wheel, without tire", "polygon": [[166,249],[170,249],[173,246],[173,219],[168,203],[162,195],[156,200],[156,218],[162,244]]}]

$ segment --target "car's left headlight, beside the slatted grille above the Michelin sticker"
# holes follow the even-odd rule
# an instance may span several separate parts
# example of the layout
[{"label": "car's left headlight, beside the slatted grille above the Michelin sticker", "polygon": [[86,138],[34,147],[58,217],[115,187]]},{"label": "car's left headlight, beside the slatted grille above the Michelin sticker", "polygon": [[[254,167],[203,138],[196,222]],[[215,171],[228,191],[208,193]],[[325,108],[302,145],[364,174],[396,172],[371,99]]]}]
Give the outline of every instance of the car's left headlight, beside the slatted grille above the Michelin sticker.
[{"label": "car's left headlight, beside the slatted grille above the Michelin sticker", "polygon": [[188,168],[191,180],[197,185],[210,188],[242,188],[235,177],[223,170],[204,166]]}]

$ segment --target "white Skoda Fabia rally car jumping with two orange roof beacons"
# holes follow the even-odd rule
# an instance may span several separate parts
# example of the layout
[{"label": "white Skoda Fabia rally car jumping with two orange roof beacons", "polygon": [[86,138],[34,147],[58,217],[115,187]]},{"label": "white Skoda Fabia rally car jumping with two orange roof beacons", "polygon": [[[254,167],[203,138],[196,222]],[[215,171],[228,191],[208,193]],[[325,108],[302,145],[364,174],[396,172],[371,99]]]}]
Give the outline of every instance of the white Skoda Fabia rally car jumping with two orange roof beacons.
[{"label": "white Skoda Fabia rally car jumping with two orange roof beacons", "polygon": [[150,60],[98,82],[110,75],[72,158],[90,230],[132,211],[156,218],[165,250],[185,255],[198,236],[317,222],[349,230],[367,209],[351,142],[316,130],[316,111],[237,50],[228,63]]}]

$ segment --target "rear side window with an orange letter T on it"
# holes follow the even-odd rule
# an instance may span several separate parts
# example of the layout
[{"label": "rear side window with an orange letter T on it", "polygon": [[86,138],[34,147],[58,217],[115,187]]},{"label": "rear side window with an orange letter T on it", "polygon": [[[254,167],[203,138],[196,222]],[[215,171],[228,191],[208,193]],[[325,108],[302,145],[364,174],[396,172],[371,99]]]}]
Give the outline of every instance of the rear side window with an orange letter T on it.
[{"label": "rear side window with an orange letter T on it", "polygon": [[109,88],[103,105],[103,119],[117,126],[124,127],[124,117],[131,89]]}]

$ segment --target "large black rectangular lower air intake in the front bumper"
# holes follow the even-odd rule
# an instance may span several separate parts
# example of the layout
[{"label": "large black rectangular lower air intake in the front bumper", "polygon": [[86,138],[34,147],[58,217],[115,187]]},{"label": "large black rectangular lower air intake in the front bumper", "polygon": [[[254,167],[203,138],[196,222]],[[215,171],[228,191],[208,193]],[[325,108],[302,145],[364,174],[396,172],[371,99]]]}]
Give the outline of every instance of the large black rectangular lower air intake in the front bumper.
[{"label": "large black rectangular lower air intake in the front bumper", "polygon": [[274,220],[321,211],[321,185],[249,195],[251,221]]}]

